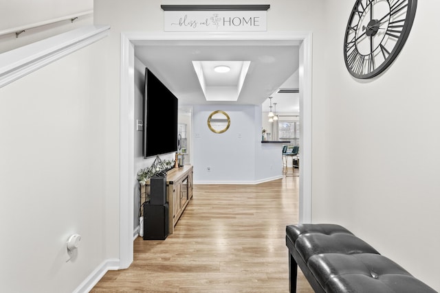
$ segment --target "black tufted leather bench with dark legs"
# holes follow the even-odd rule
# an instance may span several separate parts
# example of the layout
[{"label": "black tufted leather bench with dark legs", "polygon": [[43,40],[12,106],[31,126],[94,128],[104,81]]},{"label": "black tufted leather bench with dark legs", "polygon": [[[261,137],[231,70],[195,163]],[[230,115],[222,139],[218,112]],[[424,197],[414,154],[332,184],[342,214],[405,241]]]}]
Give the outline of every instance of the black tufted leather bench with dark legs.
[{"label": "black tufted leather bench with dark legs", "polygon": [[289,225],[286,245],[290,292],[296,292],[297,264],[315,292],[436,292],[336,224]]}]

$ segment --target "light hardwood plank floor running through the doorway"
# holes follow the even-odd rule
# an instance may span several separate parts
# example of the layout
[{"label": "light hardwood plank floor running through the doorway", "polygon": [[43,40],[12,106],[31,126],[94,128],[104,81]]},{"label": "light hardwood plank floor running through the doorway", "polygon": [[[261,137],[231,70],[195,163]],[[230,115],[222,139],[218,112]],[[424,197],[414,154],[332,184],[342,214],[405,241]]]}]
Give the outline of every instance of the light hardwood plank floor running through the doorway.
[{"label": "light hardwood plank floor running through the doorway", "polygon": [[[298,188],[296,176],[195,185],[175,233],[137,237],[130,268],[107,272],[91,292],[289,292],[285,226],[298,222]],[[314,292],[302,274],[297,292]]]}]

